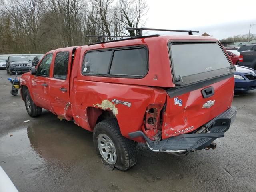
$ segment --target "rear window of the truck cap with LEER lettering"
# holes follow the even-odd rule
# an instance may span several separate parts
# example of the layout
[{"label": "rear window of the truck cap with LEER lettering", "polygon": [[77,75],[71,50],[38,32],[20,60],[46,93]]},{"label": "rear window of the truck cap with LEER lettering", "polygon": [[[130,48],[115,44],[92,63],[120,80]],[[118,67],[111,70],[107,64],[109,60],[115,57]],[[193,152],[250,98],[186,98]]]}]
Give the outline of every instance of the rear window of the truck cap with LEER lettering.
[{"label": "rear window of the truck cap with LEER lettering", "polygon": [[[192,83],[226,73],[231,64],[217,43],[200,44],[170,44],[170,53],[175,79],[181,76],[193,76],[187,78]],[[216,70],[221,70],[218,72]],[[212,72],[212,74],[205,74]],[[204,73],[204,74],[203,74]],[[200,74],[200,75],[198,75]]]}]

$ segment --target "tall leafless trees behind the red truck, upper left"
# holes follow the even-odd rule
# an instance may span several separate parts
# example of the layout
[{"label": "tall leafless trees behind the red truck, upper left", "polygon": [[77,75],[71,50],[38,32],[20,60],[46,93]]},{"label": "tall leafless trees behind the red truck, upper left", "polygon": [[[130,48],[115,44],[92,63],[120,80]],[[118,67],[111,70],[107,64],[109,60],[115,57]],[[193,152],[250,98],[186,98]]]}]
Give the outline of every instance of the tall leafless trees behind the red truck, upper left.
[{"label": "tall leafless trees behind the red truck, upper left", "polygon": [[147,12],[146,0],[0,0],[0,54],[97,41],[86,35],[135,35],[125,27],[144,26]]}]

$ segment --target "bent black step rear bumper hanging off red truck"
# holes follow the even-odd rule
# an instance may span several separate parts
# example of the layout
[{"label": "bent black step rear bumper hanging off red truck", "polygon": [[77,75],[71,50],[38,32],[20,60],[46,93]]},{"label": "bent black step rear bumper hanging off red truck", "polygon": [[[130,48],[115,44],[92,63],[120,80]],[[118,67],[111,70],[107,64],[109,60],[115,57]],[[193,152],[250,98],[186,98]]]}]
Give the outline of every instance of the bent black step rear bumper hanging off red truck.
[{"label": "bent black step rear bumper hanging off red truck", "polygon": [[142,136],[145,138],[148,147],[152,151],[159,152],[194,152],[210,146],[210,144],[219,137],[224,137],[232,122],[236,118],[236,107],[231,107],[224,113],[204,124],[208,128],[207,133],[182,134],[170,137],[166,140],[152,141],[142,131],[136,131],[129,134],[130,138]]}]

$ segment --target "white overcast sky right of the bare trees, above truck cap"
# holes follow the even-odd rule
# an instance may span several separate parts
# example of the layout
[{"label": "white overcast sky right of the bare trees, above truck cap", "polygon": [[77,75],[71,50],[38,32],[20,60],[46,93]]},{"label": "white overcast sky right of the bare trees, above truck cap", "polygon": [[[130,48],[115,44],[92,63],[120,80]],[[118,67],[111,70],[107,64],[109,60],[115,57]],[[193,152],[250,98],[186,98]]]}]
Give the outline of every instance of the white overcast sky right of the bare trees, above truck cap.
[{"label": "white overcast sky right of the bare trees, above truck cap", "polygon": [[[199,30],[200,35],[207,32],[221,39],[246,34],[249,25],[256,23],[256,0],[147,0],[147,3],[150,10],[145,27],[148,28]],[[251,33],[256,34],[256,25]]]}]

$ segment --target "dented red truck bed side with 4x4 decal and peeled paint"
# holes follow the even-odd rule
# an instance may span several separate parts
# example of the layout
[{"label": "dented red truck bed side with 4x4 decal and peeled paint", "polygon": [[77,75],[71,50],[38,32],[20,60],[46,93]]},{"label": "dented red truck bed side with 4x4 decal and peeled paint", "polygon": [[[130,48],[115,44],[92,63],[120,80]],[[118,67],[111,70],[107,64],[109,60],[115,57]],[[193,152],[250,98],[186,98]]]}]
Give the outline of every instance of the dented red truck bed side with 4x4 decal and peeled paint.
[{"label": "dented red truck bed side with 4x4 decal and peeled paint", "polygon": [[[165,90],[147,86],[75,80],[74,90],[74,108],[76,110],[74,113],[79,126],[92,131],[93,127],[90,127],[86,116],[88,107],[113,112],[112,107],[109,107],[112,103],[113,114],[116,116],[120,131],[127,138],[128,133],[141,130],[144,126],[144,115],[149,104],[164,104],[166,101]],[[131,106],[115,104],[112,102],[113,99],[129,102]],[[137,138],[137,141],[142,140]]]}]

